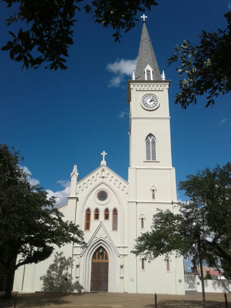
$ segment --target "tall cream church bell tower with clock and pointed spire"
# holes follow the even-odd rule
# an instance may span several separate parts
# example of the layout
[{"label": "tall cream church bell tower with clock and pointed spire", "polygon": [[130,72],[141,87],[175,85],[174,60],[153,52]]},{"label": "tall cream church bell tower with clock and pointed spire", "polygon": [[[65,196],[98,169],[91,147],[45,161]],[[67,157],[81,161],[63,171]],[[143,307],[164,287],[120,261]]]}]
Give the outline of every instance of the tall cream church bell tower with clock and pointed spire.
[{"label": "tall cream church bell tower with clock and pointed spire", "polygon": [[[133,72],[132,79],[128,80],[130,106],[128,251],[133,249],[135,239],[141,233],[150,230],[152,216],[157,213],[156,209],[175,211],[173,205],[177,199],[175,168],[172,167],[171,157],[169,85],[170,80],[165,79],[164,71],[162,75],[160,74],[144,21],[136,71]],[[179,284],[176,284],[175,275],[179,273],[183,279],[179,264],[182,262],[183,265],[183,261],[181,259],[171,261],[172,271],[167,269],[163,256],[148,263],[142,256],[139,258],[131,255],[128,263],[128,292],[136,293],[139,290],[140,293],[148,293],[147,286],[149,283],[153,285],[153,278],[157,276],[167,279],[169,283],[172,281],[177,289]],[[167,272],[169,275],[166,276]],[[142,287],[144,282],[145,288]],[[158,286],[153,291],[159,292]],[[160,292],[164,293],[163,287]],[[172,292],[174,294],[175,291]]]}]

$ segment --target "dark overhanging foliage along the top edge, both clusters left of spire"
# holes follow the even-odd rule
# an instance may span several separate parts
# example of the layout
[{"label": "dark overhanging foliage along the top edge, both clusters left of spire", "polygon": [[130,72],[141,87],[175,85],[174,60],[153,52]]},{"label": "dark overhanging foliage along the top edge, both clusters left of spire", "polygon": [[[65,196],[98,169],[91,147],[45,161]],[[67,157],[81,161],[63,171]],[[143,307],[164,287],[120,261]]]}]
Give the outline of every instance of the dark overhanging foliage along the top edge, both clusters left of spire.
[{"label": "dark overhanging foliage along the top edge, both clusters left of spire", "polygon": [[[23,67],[38,68],[42,63],[50,63],[56,70],[58,67],[65,70],[64,65],[68,57],[68,47],[73,44],[73,30],[71,27],[76,22],[75,14],[80,11],[77,3],[84,0],[3,0],[8,3],[19,3],[18,12],[7,18],[7,26],[22,21],[26,23],[26,30],[19,29],[2,50],[10,50],[10,59],[23,61]],[[120,41],[121,29],[129,31],[135,26],[137,11],[150,10],[152,5],[157,5],[155,0],[92,0],[85,2],[83,10],[90,14],[96,23],[104,27],[111,26],[115,33],[115,41]],[[84,4],[83,4],[84,5]],[[32,54],[33,51],[33,54]]]}]

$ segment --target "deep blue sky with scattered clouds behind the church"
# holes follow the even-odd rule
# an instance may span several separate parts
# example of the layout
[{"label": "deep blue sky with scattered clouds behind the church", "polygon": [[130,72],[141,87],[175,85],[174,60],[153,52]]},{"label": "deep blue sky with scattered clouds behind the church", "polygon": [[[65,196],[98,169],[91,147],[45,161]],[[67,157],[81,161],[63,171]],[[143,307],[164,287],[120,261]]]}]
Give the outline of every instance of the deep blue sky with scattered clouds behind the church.
[{"label": "deep blue sky with scattered clouds behind the church", "polygon": [[[174,104],[180,63],[167,67],[167,58],[183,39],[197,44],[202,29],[225,29],[223,15],[231,10],[231,1],[157,2],[145,12],[146,25],[160,72],[172,80],[172,165],[178,183],[198,169],[230,160],[231,95],[217,98],[213,108],[205,108],[205,97],[200,97],[196,106],[181,109]],[[14,27],[5,26],[4,18],[10,14],[1,1],[1,46],[11,39],[8,30],[14,32]],[[122,34],[120,44],[114,43],[111,29],[94,24],[90,15],[78,12],[76,19],[66,71],[21,70],[22,63],[0,51],[0,142],[20,150],[33,182],[59,197],[58,205],[66,202],[73,165],[81,179],[100,165],[103,150],[109,168],[128,179],[127,80],[138,55],[142,19]],[[184,193],[178,193],[184,200]]]}]

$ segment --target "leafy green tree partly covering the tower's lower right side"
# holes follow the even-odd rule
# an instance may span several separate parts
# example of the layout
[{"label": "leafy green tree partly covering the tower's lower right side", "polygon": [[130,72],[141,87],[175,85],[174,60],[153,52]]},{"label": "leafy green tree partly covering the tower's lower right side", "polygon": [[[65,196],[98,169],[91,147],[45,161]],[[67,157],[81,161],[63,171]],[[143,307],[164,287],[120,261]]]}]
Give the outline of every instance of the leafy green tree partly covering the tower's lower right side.
[{"label": "leafy green tree partly covering the tower's lower right side", "polygon": [[[205,168],[179,183],[190,201],[179,213],[158,209],[151,231],[140,235],[132,251],[149,261],[176,251],[176,256],[198,258],[198,236],[202,257],[209,266],[231,271],[231,163]],[[176,209],[177,211],[177,209]],[[200,236],[201,234],[201,236]],[[226,269],[226,270],[227,270]]]}]

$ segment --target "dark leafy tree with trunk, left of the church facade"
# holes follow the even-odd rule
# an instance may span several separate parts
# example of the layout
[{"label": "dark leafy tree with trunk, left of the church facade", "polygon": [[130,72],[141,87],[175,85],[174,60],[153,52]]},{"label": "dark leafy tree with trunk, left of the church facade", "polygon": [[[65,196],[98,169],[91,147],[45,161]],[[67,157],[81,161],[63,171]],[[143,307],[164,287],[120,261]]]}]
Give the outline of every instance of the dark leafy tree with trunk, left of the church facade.
[{"label": "dark leafy tree with trunk, left of the church facade", "polygon": [[79,226],[63,221],[53,208],[55,197],[47,199],[42,187],[30,185],[18,154],[0,144],[0,263],[6,267],[6,297],[19,266],[47,259],[54,245],[85,244]]}]

